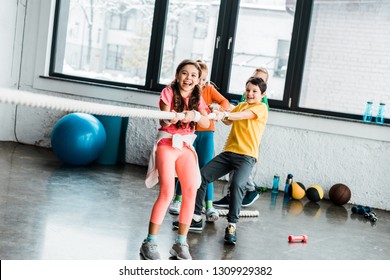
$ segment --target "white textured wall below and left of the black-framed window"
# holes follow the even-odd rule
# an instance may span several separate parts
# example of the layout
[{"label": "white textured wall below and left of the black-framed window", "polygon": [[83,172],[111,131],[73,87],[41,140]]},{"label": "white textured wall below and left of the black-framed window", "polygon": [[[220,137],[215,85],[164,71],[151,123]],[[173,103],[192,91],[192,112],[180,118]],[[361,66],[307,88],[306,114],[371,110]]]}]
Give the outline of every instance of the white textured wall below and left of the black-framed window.
[{"label": "white textured wall below and left of the black-framed window", "polygon": [[[1,87],[157,110],[158,95],[151,93],[41,78],[47,75],[53,7],[50,0],[27,3],[26,17],[21,16],[25,8],[20,2],[17,6],[15,3],[3,4],[0,11],[0,18],[7,18],[6,23],[0,25]],[[24,20],[26,29],[23,33],[20,26]],[[18,55],[22,50],[22,56]],[[15,113],[15,109],[14,105],[0,104],[0,141],[16,141],[15,134],[19,142],[50,147],[51,129],[65,112],[18,106]],[[147,165],[156,129],[157,120],[130,119],[128,163]],[[227,133],[227,127],[217,125],[218,152]],[[261,144],[255,181],[270,187],[276,173],[281,176],[281,190],[286,175],[292,173],[296,181],[306,186],[318,184],[325,193],[333,184],[344,183],[352,190],[351,203],[390,210],[387,180],[390,174],[390,126],[272,110]]]}]

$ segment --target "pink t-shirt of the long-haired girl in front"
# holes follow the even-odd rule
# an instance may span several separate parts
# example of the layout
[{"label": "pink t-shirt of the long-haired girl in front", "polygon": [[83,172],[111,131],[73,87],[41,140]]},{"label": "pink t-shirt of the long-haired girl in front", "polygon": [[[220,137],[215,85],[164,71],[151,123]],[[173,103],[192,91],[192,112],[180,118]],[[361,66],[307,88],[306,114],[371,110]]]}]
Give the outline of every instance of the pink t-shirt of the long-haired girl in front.
[{"label": "pink t-shirt of the long-haired girl in front", "polygon": [[[189,95],[187,98],[184,98],[184,101],[186,102],[186,105],[188,105],[188,100],[191,95]],[[169,106],[171,110],[173,110],[173,91],[171,87],[166,87],[161,91],[160,94],[160,100],[159,102],[162,101],[165,105]],[[207,105],[203,100],[203,97],[200,97],[199,100],[199,106],[198,106],[198,111],[201,109],[207,109]],[[195,127],[191,129],[190,123],[185,124],[183,128],[177,128],[175,125],[171,124],[170,126],[167,127],[160,127],[158,130],[163,130],[165,132],[168,132],[170,134],[180,134],[180,135],[186,135],[186,134],[193,134],[195,132]],[[169,141],[167,141],[169,140]],[[169,144],[172,145],[172,140],[171,139],[162,139],[159,144]]]}]

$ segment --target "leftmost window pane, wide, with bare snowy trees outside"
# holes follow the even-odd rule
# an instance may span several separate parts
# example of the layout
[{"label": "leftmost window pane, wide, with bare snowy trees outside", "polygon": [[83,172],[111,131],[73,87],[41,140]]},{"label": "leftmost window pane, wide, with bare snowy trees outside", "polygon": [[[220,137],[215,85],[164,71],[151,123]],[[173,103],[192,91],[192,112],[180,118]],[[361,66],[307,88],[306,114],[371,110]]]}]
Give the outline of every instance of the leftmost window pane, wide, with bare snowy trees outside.
[{"label": "leftmost window pane, wide, with bare snowy trees outside", "polygon": [[54,71],[144,85],[154,4],[152,0],[61,1]]}]

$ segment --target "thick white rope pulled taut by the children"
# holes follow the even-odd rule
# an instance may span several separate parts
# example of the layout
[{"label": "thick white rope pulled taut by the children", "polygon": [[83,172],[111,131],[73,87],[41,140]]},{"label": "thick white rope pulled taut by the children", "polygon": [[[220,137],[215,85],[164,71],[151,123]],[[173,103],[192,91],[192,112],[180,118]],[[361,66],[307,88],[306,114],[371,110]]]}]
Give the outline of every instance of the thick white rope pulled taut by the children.
[{"label": "thick white rope pulled taut by the children", "polygon": [[[116,117],[168,120],[175,117],[173,112],[99,104],[4,88],[0,89],[0,103]],[[178,117],[181,120],[184,114],[178,113]],[[209,114],[208,118],[214,119],[215,113]]]}]

